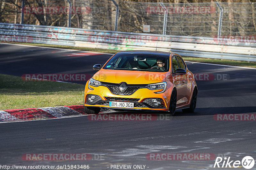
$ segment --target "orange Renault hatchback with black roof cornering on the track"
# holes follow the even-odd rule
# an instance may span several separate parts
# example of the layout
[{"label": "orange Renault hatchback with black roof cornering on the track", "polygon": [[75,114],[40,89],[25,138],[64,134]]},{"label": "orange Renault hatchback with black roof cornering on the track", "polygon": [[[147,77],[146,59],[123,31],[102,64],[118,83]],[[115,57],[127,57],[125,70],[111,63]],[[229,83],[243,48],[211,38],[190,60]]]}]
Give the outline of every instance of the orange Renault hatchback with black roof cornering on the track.
[{"label": "orange Renault hatchback with black roof cornering on the track", "polygon": [[86,82],[84,110],[98,114],[113,110],[176,109],[194,112],[197,86],[179,54],[160,51],[120,51]]}]

